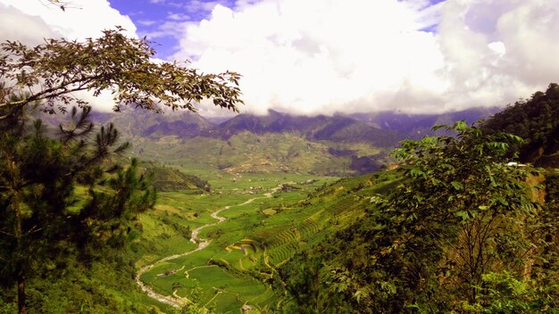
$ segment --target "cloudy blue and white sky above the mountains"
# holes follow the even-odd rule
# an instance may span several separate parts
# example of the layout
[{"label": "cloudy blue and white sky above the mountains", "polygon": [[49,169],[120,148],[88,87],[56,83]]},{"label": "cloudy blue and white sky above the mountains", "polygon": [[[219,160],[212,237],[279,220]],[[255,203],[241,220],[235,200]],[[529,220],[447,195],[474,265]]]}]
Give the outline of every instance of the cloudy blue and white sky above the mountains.
[{"label": "cloudy blue and white sky above the mountains", "polygon": [[[153,41],[156,58],[239,72],[241,112],[453,112],[559,82],[559,0],[64,2],[0,0],[0,39],[37,45],[119,25]],[[203,115],[227,113],[210,103]]]}]

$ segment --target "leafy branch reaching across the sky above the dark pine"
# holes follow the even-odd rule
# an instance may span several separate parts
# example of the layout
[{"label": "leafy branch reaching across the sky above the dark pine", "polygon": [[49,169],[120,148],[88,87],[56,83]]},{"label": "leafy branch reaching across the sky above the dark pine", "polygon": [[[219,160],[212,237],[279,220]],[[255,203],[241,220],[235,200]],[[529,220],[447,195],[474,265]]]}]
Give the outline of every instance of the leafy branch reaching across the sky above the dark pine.
[{"label": "leafy branch reaching across the sky above the dark pine", "polygon": [[83,106],[87,103],[72,94],[82,90],[95,96],[111,91],[117,103],[114,111],[123,103],[160,112],[158,102],[173,110],[196,111],[193,102],[204,98],[238,111],[242,101],[237,73],[200,74],[178,62],[155,63],[154,49],[145,39],[125,37],[121,30],[104,30],[103,37],[85,42],[49,38],[33,48],[11,41],[1,44],[0,118],[35,102],[46,112],[64,112],[72,102]]}]

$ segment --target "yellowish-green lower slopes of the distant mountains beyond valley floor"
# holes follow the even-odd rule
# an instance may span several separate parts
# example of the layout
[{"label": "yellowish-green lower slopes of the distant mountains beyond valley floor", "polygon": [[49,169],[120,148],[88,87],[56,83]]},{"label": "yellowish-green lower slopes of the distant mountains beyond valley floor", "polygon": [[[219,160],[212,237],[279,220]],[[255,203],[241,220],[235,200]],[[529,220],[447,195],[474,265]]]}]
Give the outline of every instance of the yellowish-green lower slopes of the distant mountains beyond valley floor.
[{"label": "yellowish-green lower slopes of the distant mountains beyond valley floor", "polygon": [[173,165],[200,178],[228,177],[223,172],[231,176],[284,172],[315,177],[355,175],[355,170],[350,169],[351,158],[330,154],[330,147],[355,152],[358,157],[375,155],[378,161],[388,162],[386,148],[363,143],[309,141],[296,132],[256,135],[245,131],[228,140],[162,136],[159,139],[134,137],[130,141],[135,147],[133,156]]}]

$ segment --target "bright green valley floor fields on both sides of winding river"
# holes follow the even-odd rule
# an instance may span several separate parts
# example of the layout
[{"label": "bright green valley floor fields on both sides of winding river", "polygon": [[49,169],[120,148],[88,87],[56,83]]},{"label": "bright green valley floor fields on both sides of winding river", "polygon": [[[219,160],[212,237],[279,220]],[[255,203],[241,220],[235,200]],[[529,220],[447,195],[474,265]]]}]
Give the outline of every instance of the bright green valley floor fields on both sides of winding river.
[{"label": "bright green valley floor fields on both sides of winding river", "polygon": [[[280,297],[272,291],[269,279],[278,252],[285,248],[251,237],[262,236],[265,230],[288,228],[294,219],[305,216],[296,212],[293,204],[336,179],[249,173],[212,180],[211,194],[160,193],[155,211],[140,218],[143,234],[134,241],[138,268],[165,256],[194,250],[196,244],[189,241],[188,232],[214,224],[217,220],[211,213],[230,207],[220,213],[225,221],[201,230],[200,238],[211,239],[211,244],[201,251],[155,264],[143,274],[142,281],[158,293],[187,297],[218,313],[238,312],[245,304],[260,310],[273,309]],[[271,197],[264,195],[271,192]],[[254,201],[243,204],[251,199]]]}]

